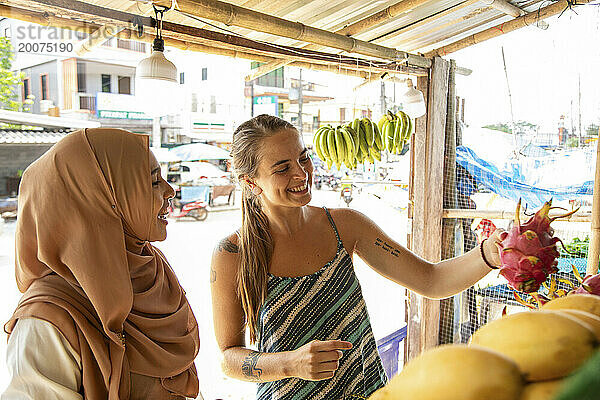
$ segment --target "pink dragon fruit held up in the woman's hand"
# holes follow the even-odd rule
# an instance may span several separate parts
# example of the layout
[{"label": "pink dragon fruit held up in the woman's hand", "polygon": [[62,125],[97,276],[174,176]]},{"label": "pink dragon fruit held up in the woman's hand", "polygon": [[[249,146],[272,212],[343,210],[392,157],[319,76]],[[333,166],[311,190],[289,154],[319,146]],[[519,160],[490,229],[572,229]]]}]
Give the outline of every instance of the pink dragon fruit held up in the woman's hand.
[{"label": "pink dragon fruit held up in the woman's hand", "polygon": [[550,224],[556,218],[567,217],[577,210],[550,218],[549,212],[553,208],[558,207],[552,207],[552,200],[546,202],[533,217],[521,225],[519,200],[512,229],[500,236],[500,275],[504,276],[515,290],[525,293],[537,292],[546,278],[558,271],[556,258],[559,253],[556,243],[561,240],[553,237],[554,230]]}]

